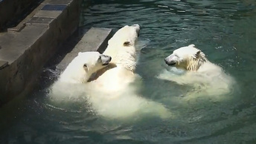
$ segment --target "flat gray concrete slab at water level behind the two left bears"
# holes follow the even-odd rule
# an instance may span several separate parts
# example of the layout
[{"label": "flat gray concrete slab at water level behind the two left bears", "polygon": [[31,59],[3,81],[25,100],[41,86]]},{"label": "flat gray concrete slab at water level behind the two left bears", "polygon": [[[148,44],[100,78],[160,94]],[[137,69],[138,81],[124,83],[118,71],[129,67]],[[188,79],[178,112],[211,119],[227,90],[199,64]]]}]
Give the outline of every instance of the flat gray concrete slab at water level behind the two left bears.
[{"label": "flat gray concrete slab at water level behind the two left bears", "polygon": [[64,59],[59,65],[57,65],[57,68],[60,70],[65,69],[79,52],[97,50],[100,53],[103,53],[107,47],[107,42],[111,37],[112,29],[92,27],[87,31],[87,33],[85,33],[83,38],[77,43],[73,50],[65,55]]}]

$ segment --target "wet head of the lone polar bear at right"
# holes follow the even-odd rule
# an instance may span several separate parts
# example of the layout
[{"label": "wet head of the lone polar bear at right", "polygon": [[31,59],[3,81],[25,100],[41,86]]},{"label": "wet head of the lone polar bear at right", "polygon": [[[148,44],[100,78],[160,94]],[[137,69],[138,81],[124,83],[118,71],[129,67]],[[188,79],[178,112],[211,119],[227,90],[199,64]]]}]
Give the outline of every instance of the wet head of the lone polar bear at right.
[{"label": "wet head of the lone polar bear at right", "polygon": [[205,53],[195,48],[195,45],[178,48],[170,56],[164,59],[167,65],[181,68],[187,71],[197,71],[205,63]]}]

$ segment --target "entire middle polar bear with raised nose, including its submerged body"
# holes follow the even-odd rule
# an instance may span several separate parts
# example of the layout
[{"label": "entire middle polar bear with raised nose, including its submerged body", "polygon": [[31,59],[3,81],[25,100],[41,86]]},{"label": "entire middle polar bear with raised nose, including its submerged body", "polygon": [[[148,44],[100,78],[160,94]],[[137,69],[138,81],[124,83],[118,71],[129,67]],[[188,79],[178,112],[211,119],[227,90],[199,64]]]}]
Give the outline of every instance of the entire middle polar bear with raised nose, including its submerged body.
[{"label": "entire middle polar bear with raised nose, including its submerged body", "polygon": [[170,112],[164,105],[137,94],[140,76],[135,73],[135,46],[139,30],[138,24],[126,25],[109,39],[103,54],[111,56],[112,61],[89,82],[91,89],[94,89],[94,92],[89,94],[92,106],[103,117],[126,120],[135,114],[140,117],[141,114],[170,117]]}]

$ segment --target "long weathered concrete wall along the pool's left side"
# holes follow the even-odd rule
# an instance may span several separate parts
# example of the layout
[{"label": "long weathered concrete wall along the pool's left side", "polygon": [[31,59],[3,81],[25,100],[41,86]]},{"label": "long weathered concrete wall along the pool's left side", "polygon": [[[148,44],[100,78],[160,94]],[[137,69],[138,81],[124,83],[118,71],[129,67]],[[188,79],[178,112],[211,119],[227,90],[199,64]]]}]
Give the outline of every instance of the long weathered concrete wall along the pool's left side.
[{"label": "long weathered concrete wall along the pool's left side", "polygon": [[43,65],[77,29],[80,2],[45,0],[19,33],[0,33],[0,106],[31,92]]}]

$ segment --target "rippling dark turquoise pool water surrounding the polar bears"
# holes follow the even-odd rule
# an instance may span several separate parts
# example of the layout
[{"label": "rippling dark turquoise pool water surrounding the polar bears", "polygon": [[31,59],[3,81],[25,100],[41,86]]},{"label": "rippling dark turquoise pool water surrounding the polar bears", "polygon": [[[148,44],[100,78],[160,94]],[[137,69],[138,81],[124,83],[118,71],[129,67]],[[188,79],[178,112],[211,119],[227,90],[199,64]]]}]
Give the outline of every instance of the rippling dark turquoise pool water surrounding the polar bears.
[{"label": "rippling dark turquoise pool water surrounding the polar bears", "polygon": [[[136,70],[143,79],[141,96],[165,105],[173,117],[108,120],[89,113],[84,102],[54,107],[45,100],[44,86],[58,73],[43,71],[42,87],[33,96],[10,105],[11,112],[1,110],[8,122],[1,122],[0,143],[256,143],[255,4],[104,0],[88,6],[85,1],[81,33],[141,25],[144,48]],[[167,68],[164,58],[190,44],[235,79],[230,94],[184,100],[190,88],[156,79]]]}]

